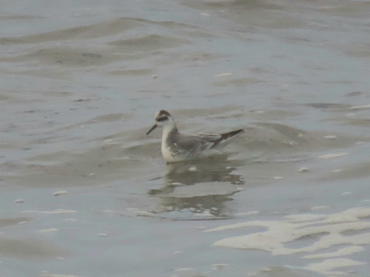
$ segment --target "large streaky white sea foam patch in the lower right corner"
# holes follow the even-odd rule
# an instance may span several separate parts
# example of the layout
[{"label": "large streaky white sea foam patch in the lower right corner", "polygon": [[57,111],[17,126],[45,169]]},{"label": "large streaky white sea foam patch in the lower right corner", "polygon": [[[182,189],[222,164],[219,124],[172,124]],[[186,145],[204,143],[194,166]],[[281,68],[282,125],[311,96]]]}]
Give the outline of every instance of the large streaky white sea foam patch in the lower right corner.
[{"label": "large streaky white sea foam patch in the lower right corner", "polygon": [[[341,246],[336,252],[311,254],[303,256],[305,259],[325,259],[319,263],[310,263],[306,270],[321,274],[345,274],[344,271],[332,271],[337,267],[349,267],[363,265],[363,261],[354,261],[342,256],[363,251],[361,245],[370,244],[370,222],[361,220],[370,216],[370,208],[354,208],[347,211],[329,215],[288,215],[283,220],[253,220],[224,225],[218,228],[204,230],[203,232],[218,232],[246,227],[265,227],[264,232],[251,233],[244,236],[235,236],[221,239],[213,243],[213,246],[231,247],[236,249],[257,249],[270,252],[272,255],[290,255],[309,253],[318,250],[329,249],[332,246]],[[354,232],[354,235],[345,235],[346,232]],[[356,231],[360,231],[356,233]],[[286,243],[297,241],[310,236],[319,236],[312,239],[307,246],[290,248]],[[334,258],[335,257],[335,258]],[[333,259],[334,258],[334,259]],[[342,261],[337,263],[337,261]],[[340,273],[339,273],[340,272]]]}]

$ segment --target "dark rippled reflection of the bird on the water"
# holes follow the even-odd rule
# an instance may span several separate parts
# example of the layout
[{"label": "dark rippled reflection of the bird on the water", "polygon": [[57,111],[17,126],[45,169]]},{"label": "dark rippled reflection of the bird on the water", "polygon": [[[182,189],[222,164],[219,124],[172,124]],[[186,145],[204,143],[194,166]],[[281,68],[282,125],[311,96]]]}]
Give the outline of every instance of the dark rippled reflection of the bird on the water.
[{"label": "dark rippled reflection of the bird on the water", "polygon": [[226,216],[225,202],[240,191],[241,175],[232,174],[243,161],[228,160],[226,155],[202,160],[168,164],[164,185],[149,190],[159,199],[162,211],[191,211]]}]

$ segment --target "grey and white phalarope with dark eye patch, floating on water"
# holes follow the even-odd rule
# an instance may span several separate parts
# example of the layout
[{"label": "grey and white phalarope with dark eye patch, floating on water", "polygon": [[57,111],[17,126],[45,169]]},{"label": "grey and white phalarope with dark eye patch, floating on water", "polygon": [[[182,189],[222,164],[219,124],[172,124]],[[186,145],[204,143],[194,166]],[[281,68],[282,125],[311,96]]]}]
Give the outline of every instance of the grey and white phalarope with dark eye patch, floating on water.
[{"label": "grey and white phalarope with dark eye patch, floating on water", "polygon": [[162,155],[167,163],[208,156],[212,153],[210,150],[224,147],[230,138],[244,131],[244,129],[238,129],[223,134],[182,134],[177,130],[175,120],[166,110],[160,110],[155,114],[155,124],[147,134],[157,127],[163,128]]}]

